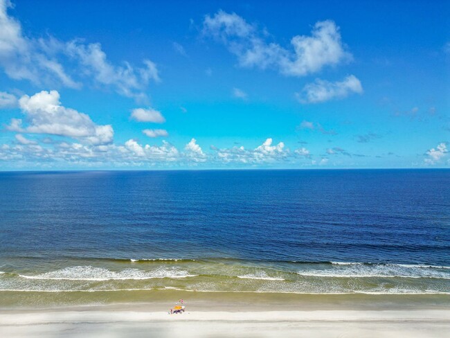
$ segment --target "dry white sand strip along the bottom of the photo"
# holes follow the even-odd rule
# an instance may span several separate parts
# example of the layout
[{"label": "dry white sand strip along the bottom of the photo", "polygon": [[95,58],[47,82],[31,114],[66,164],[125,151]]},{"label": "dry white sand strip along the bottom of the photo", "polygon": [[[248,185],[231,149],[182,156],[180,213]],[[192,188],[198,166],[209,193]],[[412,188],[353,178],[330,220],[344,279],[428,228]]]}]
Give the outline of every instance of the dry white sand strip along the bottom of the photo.
[{"label": "dry white sand strip along the bottom of the photo", "polygon": [[0,337],[449,337],[450,310],[155,312],[145,305],[0,313]]}]

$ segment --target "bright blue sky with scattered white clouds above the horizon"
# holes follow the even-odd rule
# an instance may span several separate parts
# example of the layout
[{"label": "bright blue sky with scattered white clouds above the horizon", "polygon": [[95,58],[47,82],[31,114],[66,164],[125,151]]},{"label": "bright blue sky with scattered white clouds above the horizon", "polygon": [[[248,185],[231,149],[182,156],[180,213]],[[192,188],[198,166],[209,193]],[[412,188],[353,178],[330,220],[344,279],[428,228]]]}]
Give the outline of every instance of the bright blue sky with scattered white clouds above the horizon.
[{"label": "bright blue sky with scattered white clouds above the horizon", "polygon": [[0,170],[449,168],[448,17],[0,0]]}]

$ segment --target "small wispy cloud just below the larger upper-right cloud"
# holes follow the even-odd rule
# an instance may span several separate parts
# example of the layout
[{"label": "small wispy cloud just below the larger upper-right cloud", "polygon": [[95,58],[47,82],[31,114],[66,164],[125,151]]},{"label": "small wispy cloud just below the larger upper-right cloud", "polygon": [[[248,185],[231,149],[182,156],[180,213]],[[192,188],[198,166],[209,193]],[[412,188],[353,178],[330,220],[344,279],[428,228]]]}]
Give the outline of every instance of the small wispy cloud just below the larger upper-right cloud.
[{"label": "small wispy cloud just below the larger upper-right cloud", "polygon": [[296,93],[296,96],[300,103],[319,103],[334,98],[345,98],[353,93],[362,94],[363,87],[354,75],[349,75],[337,82],[316,79],[315,82],[306,84],[303,91]]}]

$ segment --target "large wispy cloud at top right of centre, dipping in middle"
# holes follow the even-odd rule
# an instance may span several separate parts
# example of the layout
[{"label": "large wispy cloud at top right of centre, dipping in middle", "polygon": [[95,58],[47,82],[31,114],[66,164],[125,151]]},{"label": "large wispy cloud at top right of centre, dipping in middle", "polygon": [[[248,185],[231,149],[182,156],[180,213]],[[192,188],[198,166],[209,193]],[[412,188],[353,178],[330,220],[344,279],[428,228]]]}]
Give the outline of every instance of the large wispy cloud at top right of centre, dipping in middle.
[{"label": "large wispy cloud at top right of centre, dipping in middle", "polygon": [[222,42],[237,56],[240,66],[276,69],[289,76],[305,76],[324,66],[352,60],[341,42],[339,27],[330,20],[318,21],[309,36],[292,37],[291,48],[268,42],[267,33],[222,10],[206,15],[202,33]]}]

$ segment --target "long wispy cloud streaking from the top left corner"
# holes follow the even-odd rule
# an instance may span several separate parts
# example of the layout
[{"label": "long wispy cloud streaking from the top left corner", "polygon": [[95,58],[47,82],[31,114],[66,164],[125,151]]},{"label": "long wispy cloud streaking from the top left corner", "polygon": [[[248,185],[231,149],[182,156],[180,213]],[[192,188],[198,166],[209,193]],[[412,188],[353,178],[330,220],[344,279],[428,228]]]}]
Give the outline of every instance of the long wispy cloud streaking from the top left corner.
[{"label": "long wispy cloud streaking from the top left corner", "polygon": [[[138,101],[147,100],[150,80],[159,81],[156,65],[150,60],[143,60],[138,68],[128,62],[114,65],[98,43],[27,37],[20,22],[8,15],[10,6],[10,1],[0,0],[0,67],[10,78],[69,88],[80,88],[82,80],[88,79],[95,86]],[[65,67],[66,63],[71,67]]]}]

